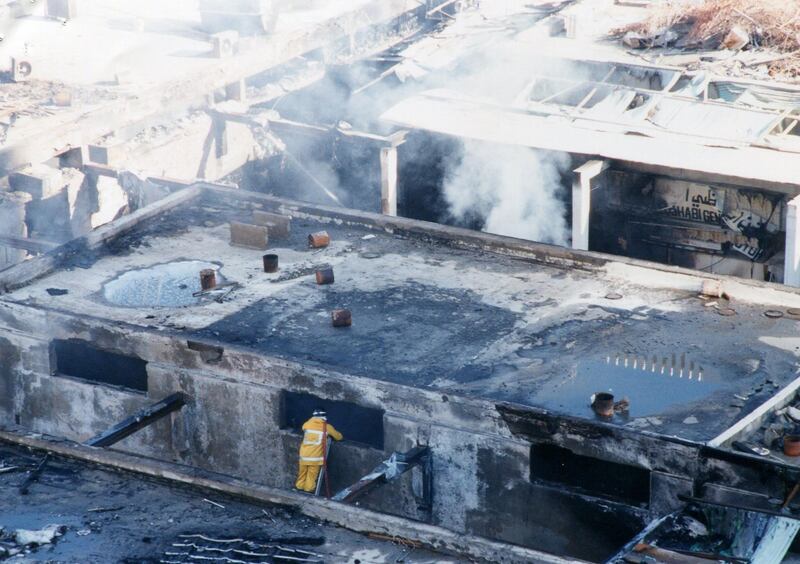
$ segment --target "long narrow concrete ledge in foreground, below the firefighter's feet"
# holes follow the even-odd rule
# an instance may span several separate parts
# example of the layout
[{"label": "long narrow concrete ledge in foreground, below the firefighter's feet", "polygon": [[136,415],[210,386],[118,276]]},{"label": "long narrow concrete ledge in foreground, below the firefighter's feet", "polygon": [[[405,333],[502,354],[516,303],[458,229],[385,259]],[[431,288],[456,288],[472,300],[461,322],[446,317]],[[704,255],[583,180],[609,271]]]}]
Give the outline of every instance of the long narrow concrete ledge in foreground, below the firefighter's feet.
[{"label": "long narrow concrete ledge in foreground, below the firefighter's feet", "polygon": [[[166,479],[184,485],[238,496],[260,503],[294,507],[304,515],[322,519],[359,533],[378,533],[410,539],[431,549],[465,555],[489,562],[541,562],[567,564],[580,562],[532,549],[503,544],[473,535],[462,535],[425,523],[337,503],[324,498],[268,488],[228,476],[126,454],[114,450],[87,447],[42,435],[0,428],[0,441],[51,452],[76,460],[102,464],[117,470]],[[46,470],[45,470],[46,471]]]}]

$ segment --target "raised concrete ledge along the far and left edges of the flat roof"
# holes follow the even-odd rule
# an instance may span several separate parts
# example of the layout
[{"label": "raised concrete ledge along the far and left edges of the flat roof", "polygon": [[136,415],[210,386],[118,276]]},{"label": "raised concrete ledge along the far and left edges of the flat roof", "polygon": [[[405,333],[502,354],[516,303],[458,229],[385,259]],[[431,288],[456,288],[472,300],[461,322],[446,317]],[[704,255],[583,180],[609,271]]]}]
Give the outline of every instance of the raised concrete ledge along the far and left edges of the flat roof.
[{"label": "raised concrete ledge along the far and left edges of the flat roof", "polygon": [[[156,216],[204,194],[239,201],[259,202],[265,204],[268,211],[279,216],[309,217],[323,222],[372,227],[454,248],[490,252],[555,268],[576,268],[594,272],[602,270],[605,274],[616,278],[631,281],[635,279],[636,283],[644,287],[700,292],[703,281],[717,280],[722,283],[724,291],[734,299],[757,304],[800,307],[800,288],[792,288],[783,284],[710,274],[593,251],[573,250],[438,223],[390,217],[341,207],[307,204],[208,182],[196,183],[187,189],[179,190],[164,200],[91,233],[87,238],[90,244],[89,248],[95,248],[103,241],[112,239],[117,234],[135,227],[143,219]],[[255,216],[254,222],[256,222]],[[80,241],[78,239],[67,245],[78,245]],[[263,249],[265,247],[256,248]],[[23,286],[51,272],[57,267],[54,257],[61,252],[60,249],[0,273],[0,294]]]}]

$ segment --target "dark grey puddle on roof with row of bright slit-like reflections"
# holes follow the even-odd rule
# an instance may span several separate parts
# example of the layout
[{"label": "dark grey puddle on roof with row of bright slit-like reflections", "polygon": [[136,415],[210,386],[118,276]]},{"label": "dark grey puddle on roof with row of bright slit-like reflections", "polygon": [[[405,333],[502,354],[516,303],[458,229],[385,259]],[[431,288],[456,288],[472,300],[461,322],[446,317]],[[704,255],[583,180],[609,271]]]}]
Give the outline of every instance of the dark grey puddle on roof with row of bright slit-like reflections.
[{"label": "dark grey puddle on roof with row of bright slit-like reflections", "polygon": [[702,400],[721,385],[716,374],[685,355],[617,355],[580,363],[574,375],[545,385],[536,394],[536,404],[562,413],[591,415],[592,394],[608,392],[615,401],[630,401],[630,417],[646,417]]}]

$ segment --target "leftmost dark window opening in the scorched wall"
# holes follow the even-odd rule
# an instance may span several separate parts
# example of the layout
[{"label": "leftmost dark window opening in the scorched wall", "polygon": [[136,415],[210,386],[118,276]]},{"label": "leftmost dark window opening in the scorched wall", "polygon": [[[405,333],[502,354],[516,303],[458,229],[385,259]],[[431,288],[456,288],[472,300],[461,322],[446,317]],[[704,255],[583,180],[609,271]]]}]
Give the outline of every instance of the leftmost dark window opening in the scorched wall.
[{"label": "leftmost dark window opening in the scorched wall", "polygon": [[53,341],[52,357],[57,375],[147,391],[147,362],[141,358],[97,349],[79,340]]}]

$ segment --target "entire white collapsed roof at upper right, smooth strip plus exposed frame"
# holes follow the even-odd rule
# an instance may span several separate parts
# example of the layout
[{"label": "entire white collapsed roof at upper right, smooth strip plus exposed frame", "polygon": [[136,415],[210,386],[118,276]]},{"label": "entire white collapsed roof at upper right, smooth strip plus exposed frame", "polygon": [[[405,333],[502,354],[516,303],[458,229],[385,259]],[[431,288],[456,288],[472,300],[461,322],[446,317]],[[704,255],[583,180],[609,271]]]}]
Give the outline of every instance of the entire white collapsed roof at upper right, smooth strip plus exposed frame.
[{"label": "entire white collapsed roof at upper right, smooth strip plus exposed frame", "polygon": [[[482,33],[491,36],[487,42],[504,35]],[[408,55],[417,67],[436,68],[419,49]],[[382,119],[457,137],[597,155],[644,172],[798,193],[800,164],[789,153],[800,151],[800,89],[538,53],[526,70],[530,80],[513,101],[447,86],[406,98]]]}]

